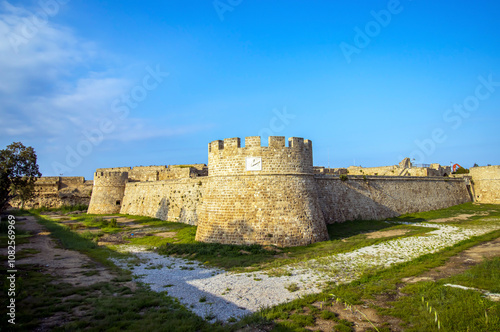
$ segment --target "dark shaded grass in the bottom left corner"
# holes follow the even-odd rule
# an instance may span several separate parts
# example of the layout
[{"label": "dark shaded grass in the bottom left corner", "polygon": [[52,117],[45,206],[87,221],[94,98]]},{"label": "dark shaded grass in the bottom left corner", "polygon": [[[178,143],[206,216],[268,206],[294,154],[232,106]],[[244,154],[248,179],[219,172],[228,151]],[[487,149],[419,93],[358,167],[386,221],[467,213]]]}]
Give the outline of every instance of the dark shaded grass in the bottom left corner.
[{"label": "dark shaded grass in the bottom left corner", "polygon": [[[140,286],[132,291],[117,282],[75,287],[56,277],[37,271],[34,266],[19,266],[16,296],[16,330],[34,331],[47,317],[63,315],[64,325],[54,331],[224,331],[189,312],[169,296]],[[1,270],[1,287],[5,289],[5,270]],[[71,296],[71,297],[70,297]],[[7,297],[0,300],[2,317],[6,317]],[[85,312],[82,317],[74,311]],[[2,319],[0,328],[6,324]]]}]

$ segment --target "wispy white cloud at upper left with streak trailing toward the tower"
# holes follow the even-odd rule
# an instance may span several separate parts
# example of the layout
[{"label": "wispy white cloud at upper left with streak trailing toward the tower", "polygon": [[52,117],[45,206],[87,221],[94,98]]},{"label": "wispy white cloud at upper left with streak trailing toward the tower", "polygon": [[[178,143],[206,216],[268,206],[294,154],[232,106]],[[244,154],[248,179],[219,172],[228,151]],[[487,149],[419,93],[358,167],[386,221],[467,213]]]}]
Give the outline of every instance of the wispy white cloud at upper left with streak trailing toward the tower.
[{"label": "wispy white cloud at upper left with streak trailing toward the tower", "polygon": [[[133,109],[129,109],[130,116],[120,120],[112,112],[113,102],[140,87],[144,80],[127,78],[128,69],[116,67],[105,50],[82,40],[71,29],[54,24],[50,17],[37,26],[30,38],[13,44],[13,38],[24,36],[26,22],[33,22],[33,15],[39,10],[0,0],[0,140],[4,143],[36,140],[43,147],[46,160],[65,164],[68,148],[78,150],[86,139],[84,132],[99,128],[103,119],[110,119],[115,128],[104,140],[120,142],[185,135],[210,128],[206,124],[165,126],[161,121],[147,119],[146,114],[134,113]],[[95,70],[102,68],[102,63],[109,63],[106,71]],[[67,166],[77,167],[69,163]]]}]

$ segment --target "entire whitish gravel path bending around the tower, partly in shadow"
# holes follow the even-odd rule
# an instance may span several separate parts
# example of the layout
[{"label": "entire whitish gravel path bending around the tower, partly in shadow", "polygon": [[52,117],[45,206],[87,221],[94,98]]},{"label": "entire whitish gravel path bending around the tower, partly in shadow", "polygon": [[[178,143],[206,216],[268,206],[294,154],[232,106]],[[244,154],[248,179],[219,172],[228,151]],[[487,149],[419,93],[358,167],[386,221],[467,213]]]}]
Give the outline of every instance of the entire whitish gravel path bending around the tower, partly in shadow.
[{"label": "entire whitish gravel path bending around the tower, partly in shadow", "polygon": [[[312,259],[282,267],[286,275],[271,277],[265,272],[232,273],[203,266],[181,258],[161,256],[144,248],[122,246],[141,261],[135,266],[116,261],[131,269],[140,282],[157,292],[167,291],[187,308],[208,320],[227,321],[262,308],[289,302],[305,294],[319,293],[322,283],[346,283],[357,279],[368,268],[383,268],[439,251],[472,236],[500,229],[500,225],[467,228],[429,223],[413,226],[436,230],[424,236],[390,240],[352,252]],[[290,291],[296,284],[297,291]]]}]

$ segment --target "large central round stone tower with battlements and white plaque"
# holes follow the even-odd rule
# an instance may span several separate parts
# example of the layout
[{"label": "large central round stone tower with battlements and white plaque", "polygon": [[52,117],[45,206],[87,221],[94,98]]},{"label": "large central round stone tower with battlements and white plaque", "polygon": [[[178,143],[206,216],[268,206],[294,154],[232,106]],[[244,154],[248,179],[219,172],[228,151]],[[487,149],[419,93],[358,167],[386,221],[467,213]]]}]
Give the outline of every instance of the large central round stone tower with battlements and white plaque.
[{"label": "large central round stone tower with battlements and white plaque", "polygon": [[[263,147],[260,137],[247,137],[241,147],[230,138],[210,143],[208,155],[198,241],[297,246],[328,239],[310,141],[292,137],[285,146],[284,137],[269,137]],[[247,158],[257,167],[249,170]]]}]

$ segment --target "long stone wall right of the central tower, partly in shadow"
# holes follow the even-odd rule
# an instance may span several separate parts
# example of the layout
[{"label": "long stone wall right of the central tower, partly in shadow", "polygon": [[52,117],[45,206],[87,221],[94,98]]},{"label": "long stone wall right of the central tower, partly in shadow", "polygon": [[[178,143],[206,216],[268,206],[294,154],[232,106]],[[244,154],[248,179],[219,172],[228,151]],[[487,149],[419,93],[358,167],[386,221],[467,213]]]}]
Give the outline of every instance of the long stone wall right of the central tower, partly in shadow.
[{"label": "long stone wall right of the central tower, partly in shadow", "polygon": [[327,223],[396,217],[471,201],[463,179],[441,177],[317,177]]}]

